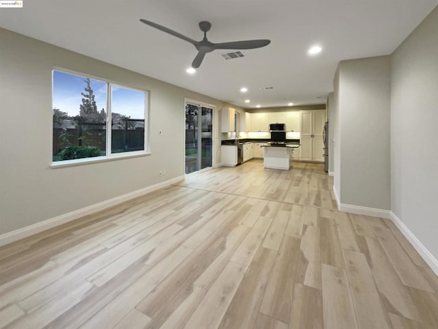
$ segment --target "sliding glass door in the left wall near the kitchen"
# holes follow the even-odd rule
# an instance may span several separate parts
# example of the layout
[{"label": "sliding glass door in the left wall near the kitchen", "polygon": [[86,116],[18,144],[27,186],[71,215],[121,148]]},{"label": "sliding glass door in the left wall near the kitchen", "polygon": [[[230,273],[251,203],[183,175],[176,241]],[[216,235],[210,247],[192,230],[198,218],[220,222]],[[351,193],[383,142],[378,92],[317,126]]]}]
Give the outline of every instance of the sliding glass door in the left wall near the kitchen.
[{"label": "sliding glass door in the left wall near the kitchen", "polygon": [[185,174],[213,163],[213,109],[185,104]]}]

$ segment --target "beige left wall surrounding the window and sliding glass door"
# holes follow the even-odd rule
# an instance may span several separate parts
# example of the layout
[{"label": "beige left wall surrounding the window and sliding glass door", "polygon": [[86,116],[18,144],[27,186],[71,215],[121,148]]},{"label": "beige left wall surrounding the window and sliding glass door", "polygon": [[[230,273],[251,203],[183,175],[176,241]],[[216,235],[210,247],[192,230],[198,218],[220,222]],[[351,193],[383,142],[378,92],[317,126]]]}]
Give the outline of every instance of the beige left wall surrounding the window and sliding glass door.
[{"label": "beige left wall surrounding the window and sliding glass door", "polygon": [[[184,98],[223,104],[0,29],[0,235],[184,174]],[[152,155],[50,168],[53,66],[150,91]],[[218,111],[215,137],[220,144]],[[160,136],[159,131],[163,131]],[[215,149],[220,163],[220,146]],[[159,170],[166,176],[159,177]]]}]

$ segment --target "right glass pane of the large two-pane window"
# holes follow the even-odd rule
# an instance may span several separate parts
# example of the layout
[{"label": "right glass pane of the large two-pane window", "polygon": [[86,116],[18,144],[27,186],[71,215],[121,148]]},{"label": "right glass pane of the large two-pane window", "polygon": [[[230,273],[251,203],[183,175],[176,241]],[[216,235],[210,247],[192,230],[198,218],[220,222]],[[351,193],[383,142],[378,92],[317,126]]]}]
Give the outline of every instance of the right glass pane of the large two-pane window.
[{"label": "right glass pane of the large two-pane window", "polygon": [[112,86],[111,153],[144,150],[145,93]]}]

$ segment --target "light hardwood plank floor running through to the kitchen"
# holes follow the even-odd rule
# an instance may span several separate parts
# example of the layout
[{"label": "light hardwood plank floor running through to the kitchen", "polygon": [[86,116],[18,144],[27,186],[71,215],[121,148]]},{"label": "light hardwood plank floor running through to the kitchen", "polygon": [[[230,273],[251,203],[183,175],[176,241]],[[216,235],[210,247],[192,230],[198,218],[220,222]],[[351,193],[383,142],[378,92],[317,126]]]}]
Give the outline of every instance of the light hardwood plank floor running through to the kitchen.
[{"label": "light hardwood plank floor running through to the kitchen", "polygon": [[315,163],[218,168],[0,248],[0,328],[438,328],[438,278]]}]

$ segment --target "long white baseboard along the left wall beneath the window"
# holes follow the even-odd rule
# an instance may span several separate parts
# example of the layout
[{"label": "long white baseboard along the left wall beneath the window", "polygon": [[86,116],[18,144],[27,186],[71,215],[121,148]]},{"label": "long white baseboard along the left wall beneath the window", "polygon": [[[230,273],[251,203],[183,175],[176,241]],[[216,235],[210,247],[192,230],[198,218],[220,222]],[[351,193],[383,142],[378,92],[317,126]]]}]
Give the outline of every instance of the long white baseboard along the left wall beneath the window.
[{"label": "long white baseboard along the left wall beneath the window", "polygon": [[144,187],[143,189],[138,189],[137,191],[129,192],[127,194],[123,194],[122,196],[116,196],[116,198],[112,198],[110,200],[105,200],[103,202],[90,205],[88,207],[77,209],[75,211],[70,211],[70,213],[64,213],[63,215],[49,218],[48,220],[44,220],[36,224],[25,226],[23,228],[18,228],[18,230],[12,232],[4,233],[3,235],[0,235],[0,246],[5,246],[6,244],[10,244],[14,241],[18,241],[20,239],[24,239],[25,237],[29,237],[42,231],[49,230],[50,228],[53,228],[55,226],[60,226],[62,224],[71,222],[72,220],[77,220],[78,218],[90,215],[91,213],[95,213],[96,211],[107,209],[114,205],[118,205],[119,203],[131,200],[133,198],[137,198],[138,196],[142,196],[143,194],[153,192],[157,189],[161,189],[163,187],[172,185],[183,180],[184,176],[178,176],[174,179],[169,179],[168,181],[164,181],[162,183]]}]

